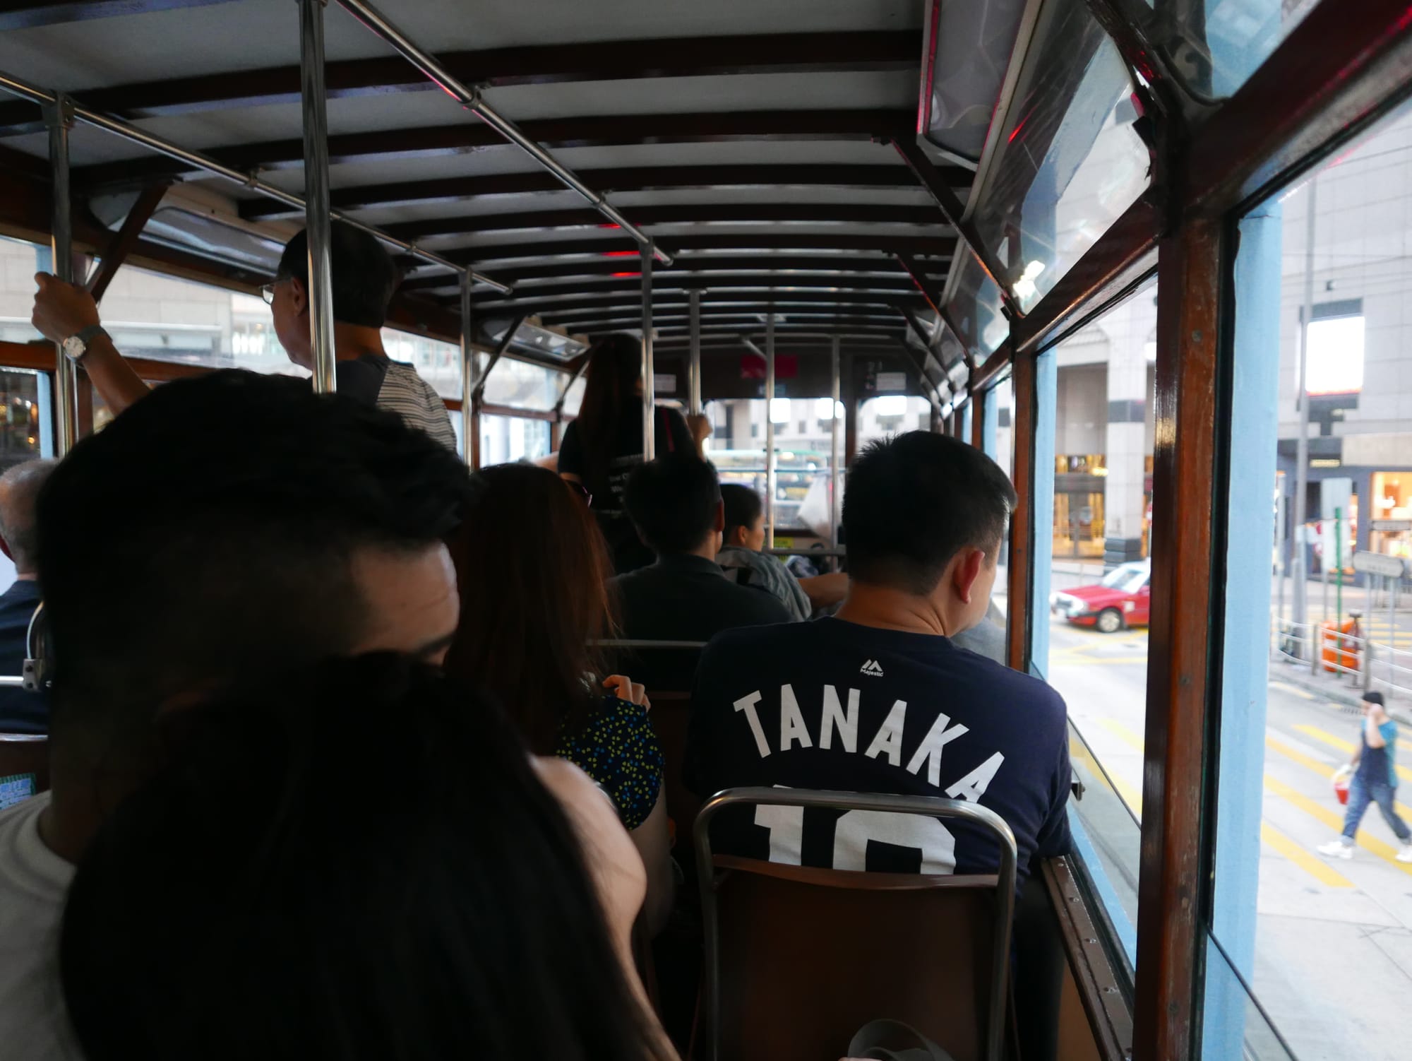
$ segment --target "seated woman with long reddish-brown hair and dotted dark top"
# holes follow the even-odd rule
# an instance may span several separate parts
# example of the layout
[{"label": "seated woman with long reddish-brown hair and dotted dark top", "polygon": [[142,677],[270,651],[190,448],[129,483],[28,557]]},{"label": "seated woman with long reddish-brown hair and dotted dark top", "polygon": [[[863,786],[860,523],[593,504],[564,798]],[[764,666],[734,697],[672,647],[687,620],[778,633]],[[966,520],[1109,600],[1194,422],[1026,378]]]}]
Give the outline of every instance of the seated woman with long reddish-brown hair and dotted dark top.
[{"label": "seated woman with long reddish-brown hair and dotted dark top", "polygon": [[662,749],[642,687],[603,678],[603,535],[583,496],[552,472],[496,465],[473,485],[450,543],[466,592],[446,670],[494,694],[532,752],[578,764],[613,798],[648,870],[655,932],[672,904]]}]

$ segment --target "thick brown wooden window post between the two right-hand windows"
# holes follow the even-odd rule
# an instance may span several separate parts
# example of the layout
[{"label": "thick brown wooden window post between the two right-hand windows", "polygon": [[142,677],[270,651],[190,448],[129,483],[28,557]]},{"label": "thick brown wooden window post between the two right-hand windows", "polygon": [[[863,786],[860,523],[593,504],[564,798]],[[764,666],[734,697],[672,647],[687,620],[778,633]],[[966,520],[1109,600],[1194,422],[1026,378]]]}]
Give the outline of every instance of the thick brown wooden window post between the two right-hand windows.
[{"label": "thick brown wooden window post between the two right-hand windows", "polygon": [[[1134,1057],[1154,1061],[1193,1057],[1202,1027],[1199,973],[1210,870],[1206,735],[1217,603],[1213,585],[1220,583],[1213,514],[1220,511],[1221,222],[1183,220],[1176,235],[1162,240],[1158,261],[1156,520],[1132,1050]],[[1264,504],[1264,496],[1255,502]]]}]

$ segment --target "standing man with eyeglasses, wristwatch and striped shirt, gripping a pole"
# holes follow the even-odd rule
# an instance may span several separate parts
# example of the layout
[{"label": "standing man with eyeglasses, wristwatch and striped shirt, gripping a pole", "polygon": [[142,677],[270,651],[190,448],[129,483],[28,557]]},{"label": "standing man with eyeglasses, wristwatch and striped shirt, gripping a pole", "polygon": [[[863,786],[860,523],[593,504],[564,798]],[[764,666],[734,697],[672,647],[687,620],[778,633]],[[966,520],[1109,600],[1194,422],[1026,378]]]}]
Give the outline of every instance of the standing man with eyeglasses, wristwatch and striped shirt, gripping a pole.
[{"label": "standing man with eyeglasses, wristwatch and striped shirt, gripping a pole", "polygon": [[[330,226],[333,357],[337,390],[356,401],[397,413],[442,445],[455,449],[446,405],[417,370],[383,349],[383,324],[397,288],[397,266],[377,239],[343,222]],[[309,342],[309,243],[301,232],[280,257],[273,284],[260,294],[274,312],[274,331],[289,360],[313,367]],[[78,284],[40,273],[34,326],[82,363],[103,401],[120,413],[151,387],[123,360],[99,322],[97,304]]]}]

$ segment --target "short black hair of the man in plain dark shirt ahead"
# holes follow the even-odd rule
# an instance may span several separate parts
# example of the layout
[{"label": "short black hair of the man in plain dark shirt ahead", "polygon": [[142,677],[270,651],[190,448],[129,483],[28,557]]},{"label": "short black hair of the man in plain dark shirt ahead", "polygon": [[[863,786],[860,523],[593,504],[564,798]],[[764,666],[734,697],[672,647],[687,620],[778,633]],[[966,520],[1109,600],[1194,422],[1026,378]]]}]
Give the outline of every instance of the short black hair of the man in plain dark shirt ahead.
[{"label": "short black hair of the man in plain dark shirt ahead", "polygon": [[720,480],[706,461],[675,454],[638,465],[628,476],[623,503],[652,550],[690,552],[716,523]]}]

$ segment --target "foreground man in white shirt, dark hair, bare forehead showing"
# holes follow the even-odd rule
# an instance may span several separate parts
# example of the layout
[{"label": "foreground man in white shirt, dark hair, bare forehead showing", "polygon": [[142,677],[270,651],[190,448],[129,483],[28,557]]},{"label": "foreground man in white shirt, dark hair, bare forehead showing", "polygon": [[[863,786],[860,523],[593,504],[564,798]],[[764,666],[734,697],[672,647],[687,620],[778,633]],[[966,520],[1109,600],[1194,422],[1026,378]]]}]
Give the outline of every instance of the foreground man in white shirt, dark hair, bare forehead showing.
[{"label": "foreground man in white shirt, dark hair, bare forehead showing", "polygon": [[249,372],[167,383],[59,462],[37,511],[52,791],[0,812],[0,1055],[72,1055],[65,891],[145,780],[158,715],[329,656],[439,660],[457,617],[442,538],[466,483],[401,418]]}]

